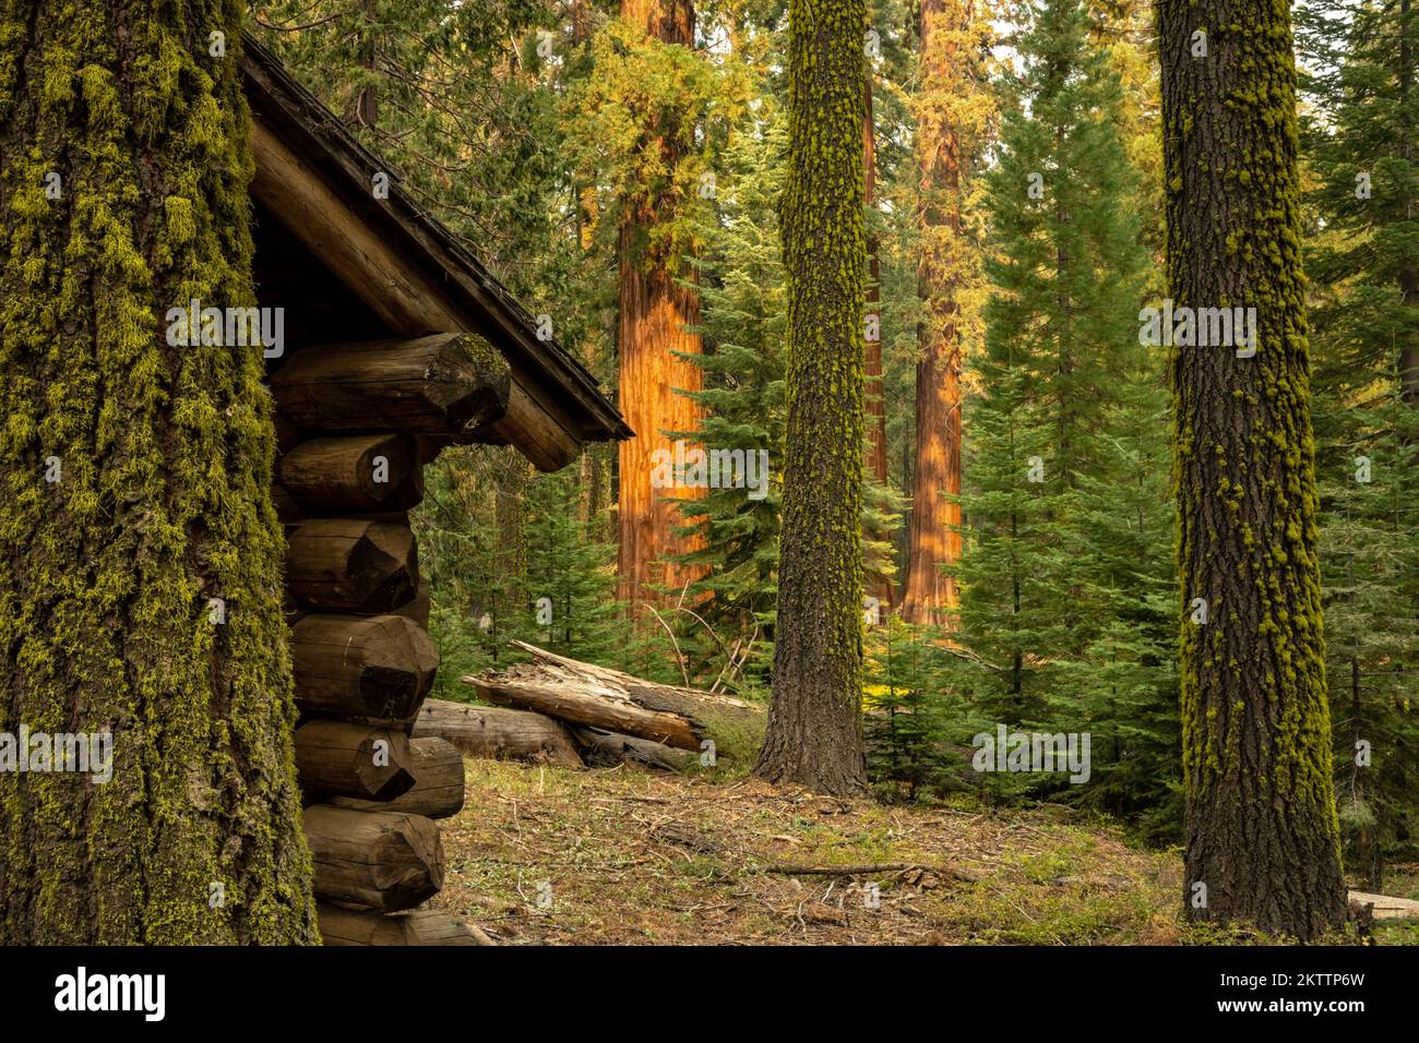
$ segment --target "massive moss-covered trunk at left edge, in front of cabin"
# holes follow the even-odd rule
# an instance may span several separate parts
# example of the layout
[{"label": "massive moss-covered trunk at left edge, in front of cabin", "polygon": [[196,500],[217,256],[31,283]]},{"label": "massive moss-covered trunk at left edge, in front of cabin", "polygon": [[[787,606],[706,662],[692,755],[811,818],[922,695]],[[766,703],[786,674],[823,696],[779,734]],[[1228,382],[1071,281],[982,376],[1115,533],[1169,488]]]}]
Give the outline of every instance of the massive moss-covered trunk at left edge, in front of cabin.
[{"label": "massive moss-covered trunk at left edge, in front of cabin", "polygon": [[162,321],[254,302],[238,27],[0,14],[0,731],[112,736],[0,773],[6,942],[315,937],[261,351]]}]

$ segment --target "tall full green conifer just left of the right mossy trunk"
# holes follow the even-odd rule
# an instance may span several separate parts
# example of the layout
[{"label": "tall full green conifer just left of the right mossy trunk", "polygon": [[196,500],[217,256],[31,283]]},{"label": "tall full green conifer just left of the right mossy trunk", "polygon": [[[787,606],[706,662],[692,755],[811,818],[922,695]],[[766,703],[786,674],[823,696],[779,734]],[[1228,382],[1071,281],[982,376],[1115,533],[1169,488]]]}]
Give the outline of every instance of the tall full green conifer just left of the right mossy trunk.
[{"label": "tall full green conifer just left of the right mossy trunk", "polygon": [[[1006,85],[988,177],[981,393],[965,419],[962,630],[996,667],[986,705],[1022,722],[1050,717],[1064,664],[1086,658],[1107,619],[1112,595],[1091,575],[1100,553],[1080,542],[1086,525],[1130,524],[1107,487],[1121,463],[1124,389],[1142,397],[1148,379],[1137,177],[1117,131],[1118,81],[1087,28],[1077,0],[1049,0],[1017,40],[1025,68]],[[1066,731],[1086,731],[1087,717],[1073,717]]]}]

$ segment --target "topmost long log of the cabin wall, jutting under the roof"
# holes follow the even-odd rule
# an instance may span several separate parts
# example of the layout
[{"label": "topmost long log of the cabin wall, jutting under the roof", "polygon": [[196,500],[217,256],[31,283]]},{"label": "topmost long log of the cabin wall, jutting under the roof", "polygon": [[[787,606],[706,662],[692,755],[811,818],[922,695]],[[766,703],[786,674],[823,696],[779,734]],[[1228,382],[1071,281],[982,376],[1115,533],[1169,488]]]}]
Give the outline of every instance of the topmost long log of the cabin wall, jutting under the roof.
[{"label": "topmost long log of the cabin wall, jutting under the roof", "polygon": [[271,377],[277,409],[312,431],[467,436],[507,413],[509,387],[477,333],[302,348]]}]

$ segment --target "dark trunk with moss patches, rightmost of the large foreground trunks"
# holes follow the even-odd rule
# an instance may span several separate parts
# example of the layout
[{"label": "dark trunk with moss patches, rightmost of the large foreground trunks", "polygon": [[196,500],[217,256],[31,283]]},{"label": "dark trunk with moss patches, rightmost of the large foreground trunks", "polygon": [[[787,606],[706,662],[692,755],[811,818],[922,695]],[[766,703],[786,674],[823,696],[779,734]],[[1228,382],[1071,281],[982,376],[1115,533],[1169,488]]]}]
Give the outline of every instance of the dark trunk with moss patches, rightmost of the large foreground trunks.
[{"label": "dark trunk with moss patches, rightmost of the large foreground trunks", "polygon": [[1271,0],[1158,10],[1174,307],[1256,308],[1253,356],[1181,346],[1171,363],[1186,908],[1310,938],[1344,921],[1345,890],[1290,13]]}]

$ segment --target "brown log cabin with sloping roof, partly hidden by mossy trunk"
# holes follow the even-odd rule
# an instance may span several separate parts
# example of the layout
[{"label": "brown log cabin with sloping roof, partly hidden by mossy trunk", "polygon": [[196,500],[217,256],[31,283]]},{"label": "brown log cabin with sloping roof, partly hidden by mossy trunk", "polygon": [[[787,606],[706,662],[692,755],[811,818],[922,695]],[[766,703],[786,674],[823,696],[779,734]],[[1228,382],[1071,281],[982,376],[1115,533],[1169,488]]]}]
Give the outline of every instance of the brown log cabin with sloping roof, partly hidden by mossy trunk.
[{"label": "brown log cabin with sloping roof, partly hidden by mossy trunk", "polygon": [[297,772],[326,944],[473,944],[441,912],[436,819],[463,758],[410,739],[438,668],[409,509],[444,447],[512,446],[539,470],[631,436],[596,380],[400,192],[255,40],[254,277],[284,309],[268,359],[287,529]]}]

